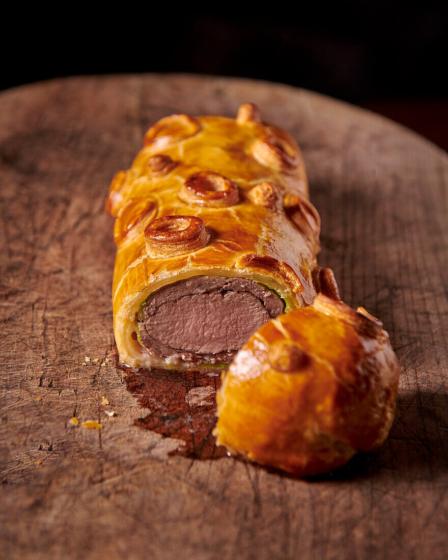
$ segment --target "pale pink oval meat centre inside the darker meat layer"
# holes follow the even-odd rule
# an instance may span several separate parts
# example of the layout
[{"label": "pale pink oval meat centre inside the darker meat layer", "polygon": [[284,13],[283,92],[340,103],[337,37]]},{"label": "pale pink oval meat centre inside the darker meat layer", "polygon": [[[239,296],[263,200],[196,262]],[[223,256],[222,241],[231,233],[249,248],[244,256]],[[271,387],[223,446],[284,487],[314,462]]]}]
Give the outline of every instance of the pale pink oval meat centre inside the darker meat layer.
[{"label": "pale pink oval meat centre inside the darker meat layer", "polygon": [[198,293],[160,305],[146,328],[167,347],[208,354],[238,350],[269,319],[251,293]]}]

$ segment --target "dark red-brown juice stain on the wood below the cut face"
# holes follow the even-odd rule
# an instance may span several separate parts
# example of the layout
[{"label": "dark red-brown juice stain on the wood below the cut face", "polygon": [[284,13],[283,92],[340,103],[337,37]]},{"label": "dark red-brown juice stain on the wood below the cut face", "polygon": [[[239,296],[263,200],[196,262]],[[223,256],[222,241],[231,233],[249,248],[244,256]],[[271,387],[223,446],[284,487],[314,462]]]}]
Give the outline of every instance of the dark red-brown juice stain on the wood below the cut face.
[{"label": "dark red-brown juice stain on the wood below the cut face", "polygon": [[127,371],[127,389],[138,396],[138,403],[151,413],[134,421],[165,437],[183,440],[185,445],[171,451],[195,459],[218,459],[227,455],[223,446],[215,445],[212,430],[216,424],[216,391],[219,376],[198,371],[159,369]]}]

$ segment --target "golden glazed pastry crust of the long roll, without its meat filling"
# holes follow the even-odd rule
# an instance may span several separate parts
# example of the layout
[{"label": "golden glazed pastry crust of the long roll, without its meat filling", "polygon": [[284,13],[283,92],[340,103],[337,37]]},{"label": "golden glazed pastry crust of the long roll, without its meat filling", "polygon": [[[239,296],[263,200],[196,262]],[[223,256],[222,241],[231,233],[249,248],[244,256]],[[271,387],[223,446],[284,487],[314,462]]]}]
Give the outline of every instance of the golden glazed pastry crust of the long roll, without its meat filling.
[{"label": "golden glazed pastry crust of the long roll, without its meat filling", "polygon": [[[309,202],[295,139],[263,123],[253,104],[236,119],[165,117],[113,179],[113,310],[120,360],[132,367],[192,367],[151,356],[136,335],[139,306],[193,276],[242,277],[276,291],[286,310],[309,305],[320,220]],[[197,366],[195,366],[197,368]]]}]

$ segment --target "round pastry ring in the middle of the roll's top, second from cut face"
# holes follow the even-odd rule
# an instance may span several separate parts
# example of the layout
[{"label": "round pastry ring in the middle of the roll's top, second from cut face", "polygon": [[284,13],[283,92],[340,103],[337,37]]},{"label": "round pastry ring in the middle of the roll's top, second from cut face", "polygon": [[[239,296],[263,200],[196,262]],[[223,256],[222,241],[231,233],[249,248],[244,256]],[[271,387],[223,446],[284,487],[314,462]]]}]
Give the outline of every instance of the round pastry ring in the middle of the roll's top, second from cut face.
[{"label": "round pastry ring in the middle of the roll's top, second from cut face", "polygon": [[225,176],[213,171],[198,171],[186,178],[179,197],[197,206],[222,208],[234,206],[240,200],[238,186]]}]

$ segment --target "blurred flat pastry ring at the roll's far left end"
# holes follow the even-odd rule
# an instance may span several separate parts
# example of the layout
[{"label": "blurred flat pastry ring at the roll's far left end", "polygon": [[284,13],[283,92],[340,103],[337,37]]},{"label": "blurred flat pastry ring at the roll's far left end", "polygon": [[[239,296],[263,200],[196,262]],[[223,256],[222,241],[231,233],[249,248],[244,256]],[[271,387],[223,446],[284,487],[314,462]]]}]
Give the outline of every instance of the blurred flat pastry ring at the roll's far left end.
[{"label": "blurred flat pastry ring at the roll's far left end", "polygon": [[190,136],[200,129],[197,120],[185,114],[165,116],[148,128],[143,138],[144,146],[166,147]]}]

